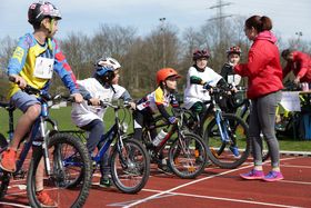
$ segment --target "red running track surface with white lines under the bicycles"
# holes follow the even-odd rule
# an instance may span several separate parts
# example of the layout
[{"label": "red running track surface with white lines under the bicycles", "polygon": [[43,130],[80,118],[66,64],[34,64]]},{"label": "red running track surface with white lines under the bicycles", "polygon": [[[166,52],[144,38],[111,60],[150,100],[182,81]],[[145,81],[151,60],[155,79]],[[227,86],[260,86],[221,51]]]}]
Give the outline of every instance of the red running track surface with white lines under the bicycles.
[{"label": "red running track surface with white lines under the bicycles", "polygon": [[[100,188],[98,176],[84,207],[310,207],[311,158],[284,157],[281,169],[284,180],[265,182],[242,180],[239,174],[249,171],[252,165],[227,170],[209,167],[195,180],[180,179],[152,168],[147,186],[137,195],[126,195],[116,188]],[[269,164],[264,171],[269,171]],[[23,185],[12,181],[9,195],[0,207],[29,207]]]}]

